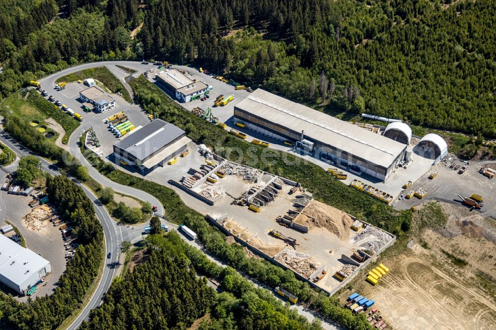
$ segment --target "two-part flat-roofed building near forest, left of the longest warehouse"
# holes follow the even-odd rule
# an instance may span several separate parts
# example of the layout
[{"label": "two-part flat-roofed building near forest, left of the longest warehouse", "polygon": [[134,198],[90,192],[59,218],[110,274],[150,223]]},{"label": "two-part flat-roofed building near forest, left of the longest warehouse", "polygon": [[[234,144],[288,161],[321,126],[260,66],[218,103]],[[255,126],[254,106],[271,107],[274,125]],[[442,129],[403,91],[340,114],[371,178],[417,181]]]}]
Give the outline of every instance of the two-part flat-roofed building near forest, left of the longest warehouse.
[{"label": "two-part flat-roofed building near forest, left of the longest warehouse", "polygon": [[193,81],[176,69],[160,71],[155,78],[181,102],[194,101],[209,92],[205,83]]}]

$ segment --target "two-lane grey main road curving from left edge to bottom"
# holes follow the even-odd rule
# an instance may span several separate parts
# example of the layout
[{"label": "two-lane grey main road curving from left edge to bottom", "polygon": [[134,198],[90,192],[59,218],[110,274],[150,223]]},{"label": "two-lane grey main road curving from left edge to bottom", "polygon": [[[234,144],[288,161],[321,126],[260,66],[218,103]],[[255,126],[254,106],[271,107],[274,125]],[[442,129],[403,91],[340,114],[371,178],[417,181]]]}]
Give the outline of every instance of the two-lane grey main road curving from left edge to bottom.
[{"label": "two-lane grey main road curving from left edge to bottom", "polygon": [[[15,140],[10,138],[7,133],[5,133],[3,130],[0,131],[0,141],[9,147],[13,152],[17,154],[18,157],[24,157],[24,156],[29,156],[29,155],[35,155],[36,154],[28,151],[26,148],[23,146],[19,145]],[[57,166],[47,162],[43,158],[39,157],[41,160],[42,168],[43,170],[47,171],[51,175],[61,175],[59,172]],[[87,189],[84,185],[79,183],[75,178],[72,178],[72,181],[75,182],[77,185],[79,185],[86,196],[93,202],[93,207],[95,209],[95,214],[100,220],[104,235],[105,235],[105,260],[106,263],[112,263],[112,262],[117,262],[117,258],[119,256],[119,250],[120,250],[120,244],[122,242],[122,231],[121,228],[117,228],[117,226],[114,224],[114,221],[110,217],[110,215],[107,213],[107,210],[105,207],[98,201],[97,197],[93,195],[93,193]],[[2,203],[3,204],[3,203]],[[4,211],[5,206],[2,205],[2,212]],[[112,252],[112,258],[107,259],[107,253]],[[82,313],[77,317],[77,319],[70,325],[67,329],[72,330],[72,329],[77,329],[81,322],[85,320],[91,309],[96,308],[100,302],[102,301],[102,297],[105,292],[107,292],[108,288],[112,284],[112,280],[114,278],[115,274],[115,269],[111,269],[109,267],[104,267],[103,269],[103,275],[100,279],[100,283],[98,284],[97,289],[93,293],[93,296],[90,299],[90,302],[85,306],[84,310]]]}]

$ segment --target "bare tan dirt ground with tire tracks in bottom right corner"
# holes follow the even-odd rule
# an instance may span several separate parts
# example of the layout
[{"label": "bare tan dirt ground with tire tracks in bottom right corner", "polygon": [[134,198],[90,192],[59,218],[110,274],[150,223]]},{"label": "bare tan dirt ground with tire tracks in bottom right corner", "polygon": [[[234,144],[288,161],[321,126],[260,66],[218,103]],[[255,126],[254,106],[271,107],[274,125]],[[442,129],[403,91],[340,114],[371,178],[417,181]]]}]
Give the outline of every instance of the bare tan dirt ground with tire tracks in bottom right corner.
[{"label": "bare tan dirt ground with tire tracks in bottom right corner", "polygon": [[424,230],[409,248],[380,258],[390,272],[376,286],[357,276],[341,298],[355,291],[372,298],[392,329],[495,329],[496,244],[485,237],[492,237],[485,223],[492,220],[443,207],[449,218],[441,229]]}]

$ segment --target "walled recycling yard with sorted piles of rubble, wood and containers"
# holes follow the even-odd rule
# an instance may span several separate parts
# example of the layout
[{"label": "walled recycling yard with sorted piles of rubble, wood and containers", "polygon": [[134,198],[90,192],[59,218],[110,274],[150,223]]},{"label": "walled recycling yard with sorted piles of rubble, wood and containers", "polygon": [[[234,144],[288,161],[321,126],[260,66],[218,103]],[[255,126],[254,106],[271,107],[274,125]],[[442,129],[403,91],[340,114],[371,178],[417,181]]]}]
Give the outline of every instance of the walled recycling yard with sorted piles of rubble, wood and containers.
[{"label": "walled recycling yard with sorted piles of rubble, wood and containers", "polygon": [[[174,169],[169,183],[201,200],[197,209],[255,253],[328,292],[342,279],[353,277],[368,259],[352,257],[360,255],[358,250],[378,255],[394,241],[391,234],[359,220],[357,231],[351,229],[355,219],[313,200],[291,180],[217,156],[213,159],[201,148],[193,152],[196,156],[178,161],[183,175]],[[203,163],[198,155],[206,157]],[[333,276],[336,272],[344,278]],[[316,279],[319,274],[324,276]]]}]

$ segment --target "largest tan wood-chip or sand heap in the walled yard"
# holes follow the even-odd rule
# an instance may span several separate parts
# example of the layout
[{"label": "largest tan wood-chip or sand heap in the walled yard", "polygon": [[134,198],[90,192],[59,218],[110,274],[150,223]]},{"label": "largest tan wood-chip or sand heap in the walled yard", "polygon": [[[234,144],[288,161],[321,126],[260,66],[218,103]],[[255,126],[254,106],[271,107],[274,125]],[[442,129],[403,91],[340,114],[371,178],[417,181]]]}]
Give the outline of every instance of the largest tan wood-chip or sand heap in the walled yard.
[{"label": "largest tan wood-chip or sand heap in the walled yard", "polygon": [[347,240],[350,237],[350,226],[353,220],[346,213],[313,200],[295,219],[295,222],[308,227],[326,228],[339,239]]}]

